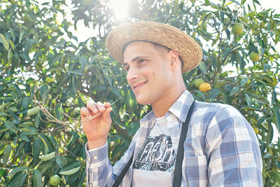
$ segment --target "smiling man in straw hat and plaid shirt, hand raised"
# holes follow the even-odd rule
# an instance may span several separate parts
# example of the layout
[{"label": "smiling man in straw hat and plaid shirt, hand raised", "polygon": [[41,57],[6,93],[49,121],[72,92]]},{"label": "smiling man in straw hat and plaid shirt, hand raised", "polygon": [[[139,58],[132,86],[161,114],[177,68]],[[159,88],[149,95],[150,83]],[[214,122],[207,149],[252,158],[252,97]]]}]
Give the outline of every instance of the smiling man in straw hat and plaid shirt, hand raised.
[{"label": "smiling man in straw hat and plaid shirt, hand raised", "polygon": [[130,147],[112,167],[106,144],[111,105],[87,102],[80,110],[82,123],[102,113],[83,125],[87,186],[112,186],[130,158],[120,186],[172,186],[183,125],[188,131],[182,144],[181,186],[262,186],[258,139],[241,113],[225,104],[197,101],[191,112],[194,99],[182,73],[202,60],[195,40],[158,22],[128,22],[108,34],[106,47],[126,69],[137,102],[151,104],[153,111],[140,120]]}]

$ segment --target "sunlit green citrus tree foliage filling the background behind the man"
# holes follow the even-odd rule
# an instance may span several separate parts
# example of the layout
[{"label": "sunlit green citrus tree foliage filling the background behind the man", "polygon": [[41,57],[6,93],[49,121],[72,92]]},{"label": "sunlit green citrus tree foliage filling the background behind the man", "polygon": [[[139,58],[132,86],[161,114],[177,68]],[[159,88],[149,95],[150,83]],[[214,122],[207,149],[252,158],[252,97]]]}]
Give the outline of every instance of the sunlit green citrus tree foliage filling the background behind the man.
[{"label": "sunlit green citrus tree foliage filling the background behind the man", "polygon": [[[279,43],[280,15],[270,9],[255,11],[256,6],[260,6],[258,0],[221,0],[218,4],[210,0],[132,0],[128,17],[116,20],[109,1],[73,0],[73,20],[67,20],[65,0],[44,4],[1,0],[1,186],[50,186],[50,176],[74,167],[80,167],[74,174],[59,174],[59,186],[85,186],[87,140],[73,119],[79,118],[79,109],[89,97],[102,102],[122,97],[113,106],[108,141],[112,163],[123,155],[139,128],[139,119],[151,110],[137,104],[123,67],[104,46],[106,34],[129,20],[168,23],[203,46],[200,66],[183,75],[187,89],[197,100],[231,104],[243,113],[258,134],[264,186],[279,186],[280,141],[272,142],[272,138],[274,129],[279,132],[280,127],[280,58],[274,48]],[[69,29],[77,27],[78,21],[93,27],[96,34],[78,42]],[[230,32],[235,22],[245,27],[240,35]],[[249,59],[252,51],[260,53],[258,62]],[[194,85],[197,78],[210,83],[212,90],[200,92]],[[71,125],[48,121],[42,111],[30,115],[36,106],[34,95],[53,116]],[[50,160],[38,158],[53,151]]]}]

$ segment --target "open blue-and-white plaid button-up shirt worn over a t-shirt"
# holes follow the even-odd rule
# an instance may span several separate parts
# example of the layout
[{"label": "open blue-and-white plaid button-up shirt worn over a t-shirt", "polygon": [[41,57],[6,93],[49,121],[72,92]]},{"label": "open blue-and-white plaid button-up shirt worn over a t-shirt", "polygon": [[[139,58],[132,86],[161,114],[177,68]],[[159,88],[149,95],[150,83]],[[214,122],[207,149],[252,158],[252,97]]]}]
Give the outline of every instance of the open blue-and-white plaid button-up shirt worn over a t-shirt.
[{"label": "open blue-and-white plaid button-up shirt worn over a t-shirt", "polygon": [[[175,152],[192,102],[193,96],[186,90],[165,115]],[[137,158],[154,124],[151,111],[140,120],[130,147],[113,167],[107,145],[86,151],[87,186],[112,186],[132,154]],[[237,109],[226,104],[195,102],[182,167],[181,186],[262,186],[262,158],[255,132]],[[120,186],[131,186],[131,181],[132,165]]]}]

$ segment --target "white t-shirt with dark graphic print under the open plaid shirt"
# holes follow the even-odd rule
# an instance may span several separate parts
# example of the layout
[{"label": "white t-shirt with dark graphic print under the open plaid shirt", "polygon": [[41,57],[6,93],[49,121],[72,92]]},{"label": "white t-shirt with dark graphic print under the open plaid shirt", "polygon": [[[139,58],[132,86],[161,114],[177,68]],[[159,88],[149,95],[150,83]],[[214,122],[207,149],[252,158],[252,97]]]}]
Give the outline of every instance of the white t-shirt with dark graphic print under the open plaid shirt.
[{"label": "white t-shirt with dark graphic print under the open plaid shirt", "polygon": [[176,153],[165,116],[155,125],[132,165],[132,186],[172,186]]}]

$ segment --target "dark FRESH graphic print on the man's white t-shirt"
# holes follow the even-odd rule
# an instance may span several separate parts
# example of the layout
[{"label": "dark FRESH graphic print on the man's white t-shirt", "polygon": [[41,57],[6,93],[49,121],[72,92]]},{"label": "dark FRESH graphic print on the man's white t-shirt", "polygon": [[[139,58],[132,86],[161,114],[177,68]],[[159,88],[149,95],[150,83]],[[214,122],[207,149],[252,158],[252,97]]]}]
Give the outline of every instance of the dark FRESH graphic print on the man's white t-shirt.
[{"label": "dark FRESH graphic print on the man's white t-shirt", "polygon": [[149,136],[133,164],[133,169],[172,172],[175,159],[170,136]]}]

